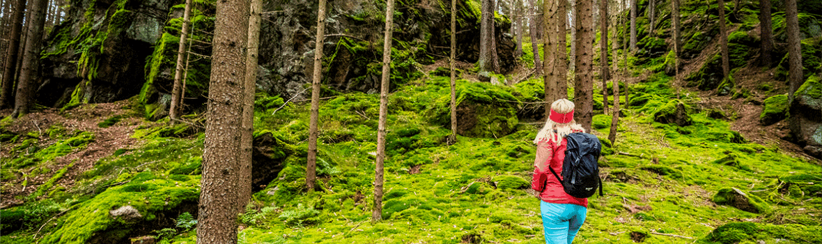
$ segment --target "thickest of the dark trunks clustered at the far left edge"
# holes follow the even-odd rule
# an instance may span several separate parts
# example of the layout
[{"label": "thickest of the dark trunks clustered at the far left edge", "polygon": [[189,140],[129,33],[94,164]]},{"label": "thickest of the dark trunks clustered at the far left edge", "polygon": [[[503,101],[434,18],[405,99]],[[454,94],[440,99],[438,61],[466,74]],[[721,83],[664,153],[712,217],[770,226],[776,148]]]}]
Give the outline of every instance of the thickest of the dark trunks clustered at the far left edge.
[{"label": "thickest of the dark trunks clustered at the far left edge", "polygon": [[24,116],[35,105],[36,82],[39,81],[40,49],[43,47],[43,26],[45,24],[45,7],[48,0],[29,2],[30,16],[28,38],[25,40],[25,53],[21,64],[20,82],[17,84],[14,112],[12,117]]}]

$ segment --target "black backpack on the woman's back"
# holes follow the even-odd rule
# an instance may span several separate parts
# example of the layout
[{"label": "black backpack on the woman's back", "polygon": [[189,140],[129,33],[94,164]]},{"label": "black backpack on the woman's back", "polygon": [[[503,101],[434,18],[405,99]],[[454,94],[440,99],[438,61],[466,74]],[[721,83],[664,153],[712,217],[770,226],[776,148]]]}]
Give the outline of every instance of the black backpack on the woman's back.
[{"label": "black backpack on the woman's back", "polygon": [[571,133],[566,136],[566,140],[562,177],[553,168],[548,169],[560,180],[563,190],[570,196],[588,198],[597,192],[597,188],[599,196],[603,196],[603,181],[599,178],[597,163],[603,145],[599,143],[597,136],[587,133]]}]

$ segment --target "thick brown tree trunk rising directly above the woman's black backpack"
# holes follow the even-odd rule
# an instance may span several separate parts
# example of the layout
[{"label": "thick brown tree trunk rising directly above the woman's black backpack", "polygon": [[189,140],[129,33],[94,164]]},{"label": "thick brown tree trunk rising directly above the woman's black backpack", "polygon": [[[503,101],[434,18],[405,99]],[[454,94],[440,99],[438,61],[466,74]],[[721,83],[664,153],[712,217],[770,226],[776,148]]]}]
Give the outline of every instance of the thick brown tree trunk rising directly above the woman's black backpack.
[{"label": "thick brown tree trunk rising directly above the woman's black backpack", "polygon": [[593,122],[593,0],[578,0],[576,3],[576,70],[574,101],[579,119],[577,122],[591,131]]}]

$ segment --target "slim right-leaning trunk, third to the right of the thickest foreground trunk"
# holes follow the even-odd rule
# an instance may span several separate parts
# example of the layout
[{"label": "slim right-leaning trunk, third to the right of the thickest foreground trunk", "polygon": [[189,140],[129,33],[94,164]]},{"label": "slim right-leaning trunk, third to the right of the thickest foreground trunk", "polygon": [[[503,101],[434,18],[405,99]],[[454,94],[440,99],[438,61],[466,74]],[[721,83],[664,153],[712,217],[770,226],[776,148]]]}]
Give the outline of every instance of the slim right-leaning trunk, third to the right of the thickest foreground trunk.
[{"label": "slim right-leaning trunk, third to the right of the thickest foreground trunk", "polygon": [[382,85],[380,85],[380,122],[376,131],[376,166],[374,167],[374,208],[371,222],[382,220],[382,163],[386,160],[386,117],[388,116],[388,78],[391,72],[391,36],[394,32],[394,0],[386,3],[386,39],[382,49]]}]

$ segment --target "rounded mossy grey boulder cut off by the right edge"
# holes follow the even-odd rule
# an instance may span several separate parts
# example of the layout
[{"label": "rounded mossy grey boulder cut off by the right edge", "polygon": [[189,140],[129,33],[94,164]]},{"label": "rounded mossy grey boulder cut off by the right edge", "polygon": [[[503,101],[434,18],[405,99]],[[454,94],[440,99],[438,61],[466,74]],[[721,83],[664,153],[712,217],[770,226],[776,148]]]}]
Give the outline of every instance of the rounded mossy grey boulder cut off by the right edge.
[{"label": "rounded mossy grey boulder cut off by the right edge", "polygon": [[822,84],[810,76],[802,85],[790,107],[790,127],[797,144],[807,154],[822,159]]}]

